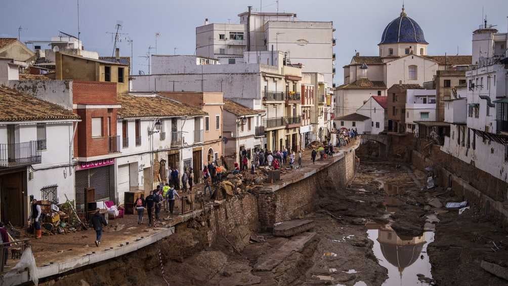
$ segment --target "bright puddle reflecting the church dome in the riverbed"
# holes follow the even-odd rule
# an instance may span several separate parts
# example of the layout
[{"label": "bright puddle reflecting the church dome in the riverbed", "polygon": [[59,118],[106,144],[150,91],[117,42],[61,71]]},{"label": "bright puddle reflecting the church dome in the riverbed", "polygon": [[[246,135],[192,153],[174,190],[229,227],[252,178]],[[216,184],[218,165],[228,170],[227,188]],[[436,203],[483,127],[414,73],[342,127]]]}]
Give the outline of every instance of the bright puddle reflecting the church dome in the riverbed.
[{"label": "bright puddle reflecting the church dome in the riverbed", "polygon": [[377,226],[367,230],[367,235],[374,242],[372,250],[379,264],[388,269],[388,279],[383,285],[422,285],[417,274],[432,277],[427,245],[434,241],[433,232],[400,237],[390,226]]}]

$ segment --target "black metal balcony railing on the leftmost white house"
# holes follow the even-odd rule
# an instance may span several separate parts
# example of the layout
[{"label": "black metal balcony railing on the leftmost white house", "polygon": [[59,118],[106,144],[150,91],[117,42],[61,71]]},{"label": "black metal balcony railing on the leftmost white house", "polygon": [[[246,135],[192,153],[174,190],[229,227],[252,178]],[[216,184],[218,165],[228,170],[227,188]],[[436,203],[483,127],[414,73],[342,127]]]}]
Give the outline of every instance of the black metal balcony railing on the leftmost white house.
[{"label": "black metal balcony railing on the leftmost white house", "polygon": [[0,144],[0,167],[19,167],[42,162],[39,141]]}]

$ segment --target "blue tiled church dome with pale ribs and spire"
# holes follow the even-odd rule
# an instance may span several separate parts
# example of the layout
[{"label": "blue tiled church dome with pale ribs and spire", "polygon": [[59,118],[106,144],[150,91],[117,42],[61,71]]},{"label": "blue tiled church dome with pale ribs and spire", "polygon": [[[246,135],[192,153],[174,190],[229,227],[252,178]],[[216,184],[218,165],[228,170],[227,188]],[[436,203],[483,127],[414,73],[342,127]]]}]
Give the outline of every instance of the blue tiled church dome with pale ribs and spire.
[{"label": "blue tiled church dome with pale ribs and spire", "polygon": [[407,17],[402,8],[400,17],[393,20],[383,31],[383,37],[379,44],[395,43],[421,43],[428,44],[423,36],[423,30],[413,19]]}]

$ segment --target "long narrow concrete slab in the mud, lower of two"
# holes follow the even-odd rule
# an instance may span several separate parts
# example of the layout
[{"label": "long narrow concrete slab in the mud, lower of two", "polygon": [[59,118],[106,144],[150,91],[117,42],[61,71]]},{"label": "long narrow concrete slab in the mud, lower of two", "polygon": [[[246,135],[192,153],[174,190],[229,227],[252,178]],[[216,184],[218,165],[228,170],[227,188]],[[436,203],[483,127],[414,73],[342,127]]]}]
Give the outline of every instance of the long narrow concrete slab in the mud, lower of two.
[{"label": "long narrow concrete slab in the mud, lower of two", "polygon": [[260,258],[254,266],[254,271],[271,271],[293,252],[301,252],[315,238],[315,232],[304,232],[292,237],[271,255]]}]

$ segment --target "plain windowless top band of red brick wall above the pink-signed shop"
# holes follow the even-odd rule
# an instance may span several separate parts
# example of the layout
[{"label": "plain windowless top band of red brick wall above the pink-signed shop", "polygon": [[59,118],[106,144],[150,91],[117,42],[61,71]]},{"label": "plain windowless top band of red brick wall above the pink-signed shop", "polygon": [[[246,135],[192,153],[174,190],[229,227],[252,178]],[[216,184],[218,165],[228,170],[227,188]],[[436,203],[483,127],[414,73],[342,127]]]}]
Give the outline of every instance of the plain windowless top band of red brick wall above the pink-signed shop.
[{"label": "plain windowless top band of red brick wall above the pink-signed shop", "polygon": [[116,83],[98,81],[73,81],[73,103],[90,105],[118,104]]}]

